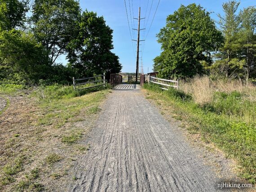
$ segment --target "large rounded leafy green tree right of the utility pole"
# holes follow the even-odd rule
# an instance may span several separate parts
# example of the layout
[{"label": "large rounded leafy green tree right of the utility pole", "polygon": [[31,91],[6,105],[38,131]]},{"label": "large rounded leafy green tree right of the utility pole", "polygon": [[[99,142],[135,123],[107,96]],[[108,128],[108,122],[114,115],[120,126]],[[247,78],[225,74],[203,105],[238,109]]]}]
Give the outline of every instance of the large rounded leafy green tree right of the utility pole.
[{"label": "large rounded leafy green tree right of the utility pole", "polygon": [[157,34],[163,52],[154,59],[154,69],[163,78],[193,77],[204,73],[212,63],[211,52],[221,46],[223,37],[216,30],[210,13],[200,5],[181,5],[167,17]]}]

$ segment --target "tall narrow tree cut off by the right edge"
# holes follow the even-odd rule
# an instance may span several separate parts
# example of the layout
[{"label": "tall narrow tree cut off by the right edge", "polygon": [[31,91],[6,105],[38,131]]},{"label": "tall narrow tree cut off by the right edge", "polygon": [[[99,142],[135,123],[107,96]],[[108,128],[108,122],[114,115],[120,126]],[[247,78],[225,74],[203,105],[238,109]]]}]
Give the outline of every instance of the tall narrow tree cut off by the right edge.
[{"label": "tall narrow tree cut off by the right edge", "polygon": [[241,31],[240,57],[244,60],[245,79],[247,82],[256,71],[256,8],[248,7],[240,12]]}]

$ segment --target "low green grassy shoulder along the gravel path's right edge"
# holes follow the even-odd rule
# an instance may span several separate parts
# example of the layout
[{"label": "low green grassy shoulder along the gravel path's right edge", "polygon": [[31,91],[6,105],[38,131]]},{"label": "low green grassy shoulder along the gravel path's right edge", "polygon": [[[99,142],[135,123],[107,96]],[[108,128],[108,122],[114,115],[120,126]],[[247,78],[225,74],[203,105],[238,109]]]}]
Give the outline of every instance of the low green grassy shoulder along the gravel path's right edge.
[{"label": "low green grassy shoulder along the gravel path's right edge", "polygon": [[[171,106],[171,113],[175,114],[175,118],[186,122],[191,133],[200,133],[205,142],[212,142],[227,157],[236,160],[240,176],[255,183],[255,119],[250,118],[249,121],[246,118],[247,122],[245,122],[242,117],[235,118],[233,114],[220,113],[221,107],[224,107],[224,110],[233,110],[232,105],[230,110],[228,108],[231,102],[229,100],[232,100],[232,98],[234,100],[234,98],[238,97],[238,93],[223,93],[222,97],[218,96],[218,102],[214,100],[215,105],[199,105],[194,102],[193,96],[176,89],[162,91],[158,86],[151,84],[145,84],[144,88],[148,90],[148,99],[153,99],[159,104],[162,103],[162,105]],[[239,97],[236,100],[239,100]],[[251,108],[256,106],[254,102],[247,103],[246,105],[249,105]]]}]

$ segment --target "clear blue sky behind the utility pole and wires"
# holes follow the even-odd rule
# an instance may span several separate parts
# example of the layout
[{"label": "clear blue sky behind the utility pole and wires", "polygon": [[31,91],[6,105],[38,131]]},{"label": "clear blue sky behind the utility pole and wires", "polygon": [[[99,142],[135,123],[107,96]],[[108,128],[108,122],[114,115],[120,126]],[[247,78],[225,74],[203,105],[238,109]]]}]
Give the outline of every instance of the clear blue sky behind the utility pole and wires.
[{"label": "clear blue sky behind the utility pole and wires", "polygon": [[[141,7],[141,17],[145,17],[144,21],[141,20],[141,27],[143,28],[146,25],[145,34],[148,33],[148,36],[145,41],[145,48],[143,51],[142,59],[144,66],[144,73],[152,71],[153,68],[153,59],[158,56],[161,52],[160,44],[157,43],[156,34],[159,30],[165,26],[166,17],[169,14],[172,14],[175,10],[177,10],[181,4],[188,5],[191,3],[200,4],[203,8],[205,8],[209,12],[213,12],[211,17],[214,20],[218,20],[217,14],[222,14],[222,4],[227,0],[160,0],[158,10],[154,17],[153,24],[148,33],[149,26],[151,24],[153,15],[155,13],[157,4],[159,0],[130,0],[131,14],[134,17],[138,16],[138,7]],[[146,13],[147,4],[148,9]],[[130,18],[130,9],[129,9],[129,0],[126,0],[127,9],[128,9],[128,17]],[[132,8],[133,4],[133,8]],[[150,7],[152,4],[152,9],[150,16]],[[241,0],[240,6],[238,9],[243,9],[243,7],[248,7],[255,5],[254,0]],[[114,49],[113,52],[119,56],[120,63],[123,65],[122,72],[135,72],[136,71],[136,58],[135,52],[132,48],[131,36],[128,28],[127,16],[125,11],[124,0],[80,0],[80,5],[83,10],[88,9],[88,11],[97,12],[98,16],[103,16],[106,20],[106,24],[110,26],[111,29],[114,30],[113,33],[113,42]],[[132,13],[133,9],[133,13]],[[137,20],[132,21],[134,26],[131,28],[137,28]],[[130,23],[131,25],[131,23]],[[133,34],[134,33],[134,34]],[[132,36],[137,39],[137,31],[133,31]],[[144,37],[144,32],[141,31],[141,39]],[[146,35],[145,35],[146,36]],[[145,39],[145,37],[144,37]],[[143,43],[142,43],[143,44]],[[135,47],[134,47],[135,49]],[[142,49],[142,48],[141,48]],[[141,55],[141,53],[140,53]],[[60,59],[60,62],[66,63],[65,59]]]}]

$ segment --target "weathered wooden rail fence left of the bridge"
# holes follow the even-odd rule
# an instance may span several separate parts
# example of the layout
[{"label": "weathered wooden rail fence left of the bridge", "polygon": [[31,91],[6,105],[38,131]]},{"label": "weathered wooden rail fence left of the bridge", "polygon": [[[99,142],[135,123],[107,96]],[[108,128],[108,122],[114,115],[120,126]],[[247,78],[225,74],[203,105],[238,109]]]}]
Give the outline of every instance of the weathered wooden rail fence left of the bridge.
[{"label": "weathered wooden rail fence left of the bridge", "polygon": [[[93,79],[96,79],[98,77],[103,77],[103,79],[100,79],[100,80],[93,80]],[[87,80],[86,82],[83,82],[83,83],[76,83],[77,81],[84,81],[84,80]],[[89,80],[89,81],[88,81]],[[93,80],[93,81],[91,81]],[[83,87],[83,88],[79,88],[77,89],[76,86],[79,86],[79,85],[85,85],[85,84],[88,84],[88,83],[99,83],[99,82],[103,82],[101,84],[96,84],[96,85],[93,85],[93,86],[89,86],[89,87]],[[73,77],[73,86],[74,86],[74,90],[82,90],[82,89],[88,89],[88,88],[92,88],[92,87],[97,87],[97,86],[106,86],[106,74],[104,73],[103,75],[97,75],[97,76],[94,76],[94,77],[86,77],[86,78],[82,78],[82,79],[75,79],[75,77]]]}]

